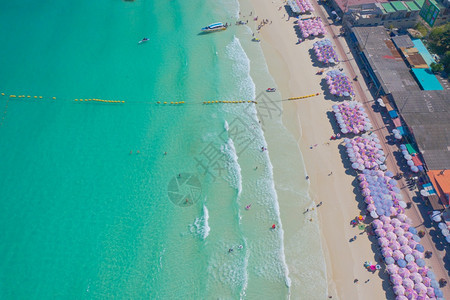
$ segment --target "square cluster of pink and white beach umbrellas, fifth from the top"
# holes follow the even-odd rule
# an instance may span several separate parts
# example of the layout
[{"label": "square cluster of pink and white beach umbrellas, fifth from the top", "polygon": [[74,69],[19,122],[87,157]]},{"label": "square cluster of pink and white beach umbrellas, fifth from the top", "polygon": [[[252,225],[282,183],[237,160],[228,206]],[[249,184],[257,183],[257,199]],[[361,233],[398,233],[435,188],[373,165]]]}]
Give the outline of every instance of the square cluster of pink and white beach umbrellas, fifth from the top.
[{"label": "square cluster of pink and white beach umbrellas, fifth from the top", "polygon": [[332,108],[342,133],[359,134],[372,129],[372,123],[361,103],[344,101]]}]

